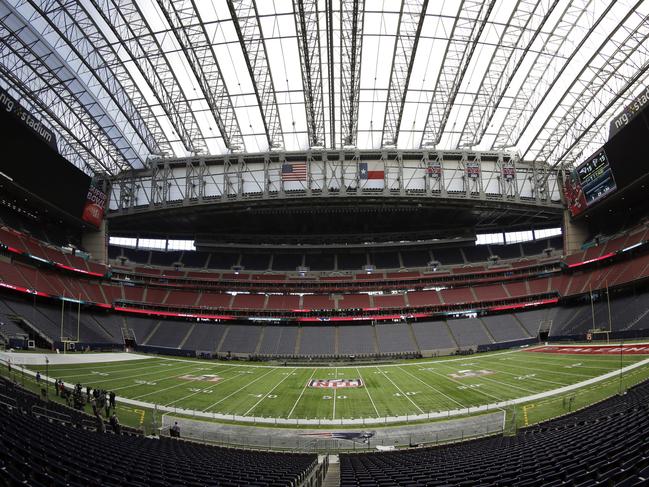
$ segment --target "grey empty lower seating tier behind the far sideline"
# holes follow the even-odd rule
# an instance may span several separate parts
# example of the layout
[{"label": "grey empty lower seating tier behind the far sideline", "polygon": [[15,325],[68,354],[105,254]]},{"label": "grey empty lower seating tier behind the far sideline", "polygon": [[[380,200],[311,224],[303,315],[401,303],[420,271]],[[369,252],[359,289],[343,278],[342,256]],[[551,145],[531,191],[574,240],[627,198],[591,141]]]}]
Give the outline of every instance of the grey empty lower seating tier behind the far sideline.
[{"label": "grey empty lower seating tier behind the far sideline", "polygon": [[[329,300],[328,296],[325,298]],[[180,349],[189,353],[231,352],[262,356],[452,353],[458,348],[534,339],[542,323],[551,325],[550,336],[553,338],[585,338],[588,330],[594,327],[593,323],[595,327],[603,329],[609,326],[608,302],[605,299],[595,302],[592,308],[589,301],[581,301],[515,313],[436,318],[412,323],[377,323],[375,326],[354,322],[322,322],[302,326],[262,326],[230,321],[213,323],[146,317],[83,306],[79,310],[74,303],[66,303],[65,306],[63,334],[76,338],[79,333],[84,347],[121,347],[124,344],[123,331],[127,328],[133,332],[137,345]],[[649,293],[613,296],[610,308],[613,332],[640,337],[645,330],[649,330]],[[80,315],[77,315],[78,311]],[[61,304],[40,299],[3,297],[0,299],[0,319],[17,323],[32,339],[44,335],[51,342],[58,342],[61,338]],[[40,333],[35,333],[34,328]]]}]

